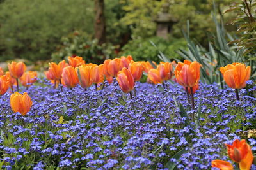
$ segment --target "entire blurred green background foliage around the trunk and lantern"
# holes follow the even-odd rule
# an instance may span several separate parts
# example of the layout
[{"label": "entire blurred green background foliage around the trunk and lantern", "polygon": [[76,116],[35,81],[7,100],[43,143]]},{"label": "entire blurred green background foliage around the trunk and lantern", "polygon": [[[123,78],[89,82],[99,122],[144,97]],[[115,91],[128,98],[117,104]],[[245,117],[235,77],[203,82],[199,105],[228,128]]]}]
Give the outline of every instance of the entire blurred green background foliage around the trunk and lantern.
[{"label": "entire blurred green background foliage around the trunk and lantern", "polygon": [[[178,22],[168,39],[156,37],[157,14],[164,3],[170,3],[169,13]],[[232,3],[241,0],[215,0],[216,18],[227,23],[236,16],[225,13]],[[182,34],[187,20],[190,39],[209,48],[209,34],[216,34],[212,20],[212,0],[105,0],[106,39],[98,45],[93,38],[94,2],[92,0],[1,0],[0,1],[0,61],[15,58],[32,62],[70,55],[83,56],[88,62],[131,54],[134,60],[156,60],[158,50],[168,59],[184,59],[177,53],[187,49]],[[225,25],[228,32],[234,25]],[[157,48],[151,45],[152,41]]]}]

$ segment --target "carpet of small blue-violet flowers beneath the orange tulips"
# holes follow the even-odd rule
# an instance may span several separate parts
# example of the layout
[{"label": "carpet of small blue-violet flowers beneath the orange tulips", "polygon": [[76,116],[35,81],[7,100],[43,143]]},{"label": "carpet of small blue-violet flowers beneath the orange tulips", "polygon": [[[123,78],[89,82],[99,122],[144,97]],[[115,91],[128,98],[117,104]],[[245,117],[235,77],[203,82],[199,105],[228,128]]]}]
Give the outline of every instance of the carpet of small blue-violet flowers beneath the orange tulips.
[{"label": "carpet of small blue-violet flowers beneath the orange tulips", "polygon": [[[27,90],[33,106],[26,116],[12,112],[10,93],[0,97],[0,161],[6,169],[210,169],[213,159],[228,160],[224,143],[247,139],[256,150],[256,134],[248,138],[256,86],[247,87],[236,101],[233,89],[200,83],[191,110],[177,84],[137,83],[130,99],[117,83],[61,92],[40,80]],[[188,124],[177,103],[190,116],[200,101],[199,125]]]}]

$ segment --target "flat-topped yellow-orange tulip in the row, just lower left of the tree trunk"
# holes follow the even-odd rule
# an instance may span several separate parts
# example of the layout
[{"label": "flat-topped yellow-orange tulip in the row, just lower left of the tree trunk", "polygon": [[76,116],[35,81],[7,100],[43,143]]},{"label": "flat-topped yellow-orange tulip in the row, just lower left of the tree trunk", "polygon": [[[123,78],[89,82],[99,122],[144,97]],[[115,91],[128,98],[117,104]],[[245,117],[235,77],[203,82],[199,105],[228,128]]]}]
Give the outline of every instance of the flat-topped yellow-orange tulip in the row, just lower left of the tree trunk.
[{"label": "flat-topped yellow-orange tulip in the row, just lower left of the tree trunk", "polygon": [[92,66],[76,67],[79,85],[85,89],[92,85],[92,69]]}]

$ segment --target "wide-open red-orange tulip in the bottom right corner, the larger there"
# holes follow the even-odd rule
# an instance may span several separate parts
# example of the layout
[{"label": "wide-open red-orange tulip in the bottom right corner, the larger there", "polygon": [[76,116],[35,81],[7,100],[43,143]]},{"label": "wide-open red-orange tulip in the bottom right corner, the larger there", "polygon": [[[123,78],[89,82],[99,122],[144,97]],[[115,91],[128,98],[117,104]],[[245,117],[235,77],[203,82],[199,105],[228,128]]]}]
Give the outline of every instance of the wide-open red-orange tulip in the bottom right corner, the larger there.
[{"label": "wide-open red-orange tulip in the bottom right corner, the larger there", "polygon": [[248,143],[246,143],[244,139],[241,141],[236,139],[232,143],[232,145],[226,144],[226,146],[230,159],[232,159],[234,162],[239,163],[240,169],[250,170],[253,162],[253,155],[250,145],[248,145]]}]

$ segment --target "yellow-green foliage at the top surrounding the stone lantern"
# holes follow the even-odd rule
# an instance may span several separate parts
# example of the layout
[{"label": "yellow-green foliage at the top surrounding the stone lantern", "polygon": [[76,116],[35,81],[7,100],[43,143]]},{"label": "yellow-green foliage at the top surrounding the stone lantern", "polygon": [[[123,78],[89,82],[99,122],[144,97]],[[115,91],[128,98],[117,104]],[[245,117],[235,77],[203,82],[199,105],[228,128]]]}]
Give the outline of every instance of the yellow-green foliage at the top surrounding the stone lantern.
[{"label": "yellow-green foliage at the top surrounding the stone lantern", "polygon": [[[236,0],[239,1],[239,0]],[[186,29],[186,22],[191,22],[191,38],[196,38],[203,45],[207,45],[207,34],[205,32],[214,32],[214,22],[211,20],[212,0],[127,0],[124,10],[125,16],[120,20],[124,25],[131,27],[132,39],[148,38],[156,34],[156,24],[154,18],[161,11],[163,3],[170,3],[169,13],[179,22],[173,25],[172,36],[182,38],[180,29]],[[216,8],[220,17],[230,16],[222,15],[222,11],[227,8],[234,0],[216,0]],[[224,18],[226,20],[226,18]]]}]

